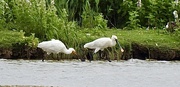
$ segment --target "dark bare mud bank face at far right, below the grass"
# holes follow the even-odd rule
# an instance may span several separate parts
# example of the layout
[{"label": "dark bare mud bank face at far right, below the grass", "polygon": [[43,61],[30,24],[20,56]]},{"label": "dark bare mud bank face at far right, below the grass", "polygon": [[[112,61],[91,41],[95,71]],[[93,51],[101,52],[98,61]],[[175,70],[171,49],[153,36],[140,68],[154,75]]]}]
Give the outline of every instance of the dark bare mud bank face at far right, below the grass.
[{"label": "dark bare mud bank face at far right, below the grass", "polygon": [[137,59],[180,60],[180,49],[132,43],[132,55]]}]

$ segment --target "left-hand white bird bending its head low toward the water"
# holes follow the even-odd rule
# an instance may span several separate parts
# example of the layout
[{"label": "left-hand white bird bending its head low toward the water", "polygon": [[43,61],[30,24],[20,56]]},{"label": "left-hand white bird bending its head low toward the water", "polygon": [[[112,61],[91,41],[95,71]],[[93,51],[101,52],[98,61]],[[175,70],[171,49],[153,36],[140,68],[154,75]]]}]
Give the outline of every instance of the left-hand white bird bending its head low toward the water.
[{"label": "left-hand white bird bending its head low toward the water", "polygon": [[[62,43],[60,40],[51,39],[50,41],[43,41],[38,44],[39,48],[46,51],[48,55],[52,54],[59,54],[59,53],[65,53],[65,54],[76,54],[76,51],[74,48],[67,49],[64,43]],[[44,61],[44,58],[43,60]]]}]

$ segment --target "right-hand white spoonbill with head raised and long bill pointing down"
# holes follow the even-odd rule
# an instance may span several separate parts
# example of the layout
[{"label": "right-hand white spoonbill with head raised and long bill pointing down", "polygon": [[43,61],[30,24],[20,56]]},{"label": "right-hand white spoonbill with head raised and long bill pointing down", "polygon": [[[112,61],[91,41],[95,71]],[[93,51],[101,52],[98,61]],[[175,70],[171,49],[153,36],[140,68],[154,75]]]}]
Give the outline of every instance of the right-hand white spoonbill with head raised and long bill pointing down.
[{"label": "right-hand white spoonbill with head raised and long bill pointing down", "polygon": [[[124,50],[122,49],[122,47],[120,46],[120,44],[117,40],[117,36],[115,36],[115,35],[112,35],[111,38],[102,37],[102,38],[96,39],[92,42],[86,43],[84,45],[84,48],[88,48],[91,50],[93,49],[94,53],[97,53],[99,51],[99,57],[102,58],[101,51],[103,51],[105,48],[115,46],[116,43],[118,43],[118,45],[121,49],[121,52],[124,52]],[[88,54],[86,56],[89,57],[90,61],[93,59],[92,52],[88,52]],[[108,61],[110,62],[110,59],[108,59]]]}]

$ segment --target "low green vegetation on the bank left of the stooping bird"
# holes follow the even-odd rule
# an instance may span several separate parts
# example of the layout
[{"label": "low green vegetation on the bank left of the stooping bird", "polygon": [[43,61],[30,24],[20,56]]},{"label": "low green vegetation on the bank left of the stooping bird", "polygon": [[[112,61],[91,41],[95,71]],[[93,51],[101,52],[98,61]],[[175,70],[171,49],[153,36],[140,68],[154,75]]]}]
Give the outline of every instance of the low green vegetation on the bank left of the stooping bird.
[{"label": "low green vegetation on the bank left of the stooping bird", "polygon": [[20,31],[0,31],[0,48],[12,48],[13,44],[21,44],[30,47],[37,47],[39,43],[38,38],[34,37],[34,34],[30,36],[24,36],[25,32]]}]

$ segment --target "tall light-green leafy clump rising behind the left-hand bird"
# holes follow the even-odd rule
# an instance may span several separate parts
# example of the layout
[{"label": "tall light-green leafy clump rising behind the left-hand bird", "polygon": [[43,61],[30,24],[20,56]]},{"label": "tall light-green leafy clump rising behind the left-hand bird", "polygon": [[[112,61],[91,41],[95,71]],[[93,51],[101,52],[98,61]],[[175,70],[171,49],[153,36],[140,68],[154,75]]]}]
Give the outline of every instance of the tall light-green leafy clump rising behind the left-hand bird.
[{"label": "tall light-green leafy clump rising behind the left-hand bird", "polygon": [[[75,22],[68,21],[68,13],[65,8],[58,9],[53,2],[45,0],[9,0],[11,15],[8,29],[23,30],[25,35],[34,33],[41,40],[67,36],[69,29],[77,27]],[[58,15],[57,15],[58,12]],[[65,35],[66,34],[66,35]]]}]

